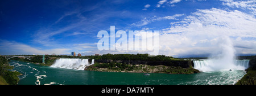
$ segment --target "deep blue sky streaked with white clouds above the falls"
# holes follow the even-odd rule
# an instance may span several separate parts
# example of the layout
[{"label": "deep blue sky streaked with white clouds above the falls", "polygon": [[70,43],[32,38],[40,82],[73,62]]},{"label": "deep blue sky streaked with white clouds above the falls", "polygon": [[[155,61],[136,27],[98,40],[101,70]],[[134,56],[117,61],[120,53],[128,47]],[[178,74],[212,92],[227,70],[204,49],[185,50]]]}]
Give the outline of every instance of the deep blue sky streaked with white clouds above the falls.
[{"label": "deep blue sky streaked with white clouds above the falls", "polygon": [[[0,1],[0,54],[137,54],[99,51],[97,33],[160,30],[159,54],[208,56],[232,41],[237,55],[256,54],[256,1]],[[118,38],[117,38],[118,39]]]}]

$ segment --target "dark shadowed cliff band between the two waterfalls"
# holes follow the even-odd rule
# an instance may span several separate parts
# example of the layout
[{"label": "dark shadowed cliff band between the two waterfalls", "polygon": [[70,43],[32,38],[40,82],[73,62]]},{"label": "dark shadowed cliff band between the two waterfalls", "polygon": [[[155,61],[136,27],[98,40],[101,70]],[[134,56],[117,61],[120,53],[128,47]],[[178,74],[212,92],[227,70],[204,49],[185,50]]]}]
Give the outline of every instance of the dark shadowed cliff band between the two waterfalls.
[{"label": "dark shadowed cliff band between the two waterfalls", "polygon": [[95,62],[98,63],[110,63],[117,62],[123,64],[147,64],[149,66],[174,66],[174,67],[182,67],[188,68],[189,66],[193,66],[193,62],[191,60],[171,60],[171,61],[150,61],[150,60],[105,60],[105,59],[96,59]]}]

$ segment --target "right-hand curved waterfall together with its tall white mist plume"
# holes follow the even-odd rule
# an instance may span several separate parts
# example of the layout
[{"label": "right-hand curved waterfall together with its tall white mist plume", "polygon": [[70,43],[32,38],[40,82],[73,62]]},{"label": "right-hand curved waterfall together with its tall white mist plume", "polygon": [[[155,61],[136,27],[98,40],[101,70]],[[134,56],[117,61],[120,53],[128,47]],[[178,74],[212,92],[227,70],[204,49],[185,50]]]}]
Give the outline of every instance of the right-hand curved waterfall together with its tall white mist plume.
[{"label": "right-hand curved waterfall together with its tall white mist plume", "polygon": [[248,68],[249,60],[235,59],[236,50],[228,36],[218,38],[216,45],[208,59],[193,61],[195,69],[205,72]]}]

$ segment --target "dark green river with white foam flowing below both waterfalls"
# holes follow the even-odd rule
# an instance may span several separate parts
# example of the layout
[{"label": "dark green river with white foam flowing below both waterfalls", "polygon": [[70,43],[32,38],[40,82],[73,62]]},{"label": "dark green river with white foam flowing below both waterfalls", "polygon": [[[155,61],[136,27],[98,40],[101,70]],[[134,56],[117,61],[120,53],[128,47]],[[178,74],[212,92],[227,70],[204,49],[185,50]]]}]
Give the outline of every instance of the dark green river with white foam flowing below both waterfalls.
[{"label": "dark green river with white foam flowing below both waterfalls", "polygon": [[201,72],[190,75],[166,73],[97,72],[40,66],[11,60],[19,76],[18,85],[232,85],[246,74],[243,70]]}]

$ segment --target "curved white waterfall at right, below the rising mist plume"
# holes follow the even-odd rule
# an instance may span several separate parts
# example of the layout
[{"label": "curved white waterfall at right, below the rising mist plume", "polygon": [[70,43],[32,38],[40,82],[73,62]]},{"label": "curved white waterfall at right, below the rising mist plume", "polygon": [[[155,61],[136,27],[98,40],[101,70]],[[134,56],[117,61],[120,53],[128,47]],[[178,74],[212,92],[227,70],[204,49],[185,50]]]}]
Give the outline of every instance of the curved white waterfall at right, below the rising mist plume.
[{"label": "curved white waterfall at right, below the rising mist plume", "polygon": [[221,70],[229,70],[229,69],[237,69],[237,70],[245,70],[249,68],[250,60],[233,60],[232,64],[216,62],[214,59],[206,59],[206,60],[193,60],[194,68],[199,69],[199,71],[221,71]]}]

